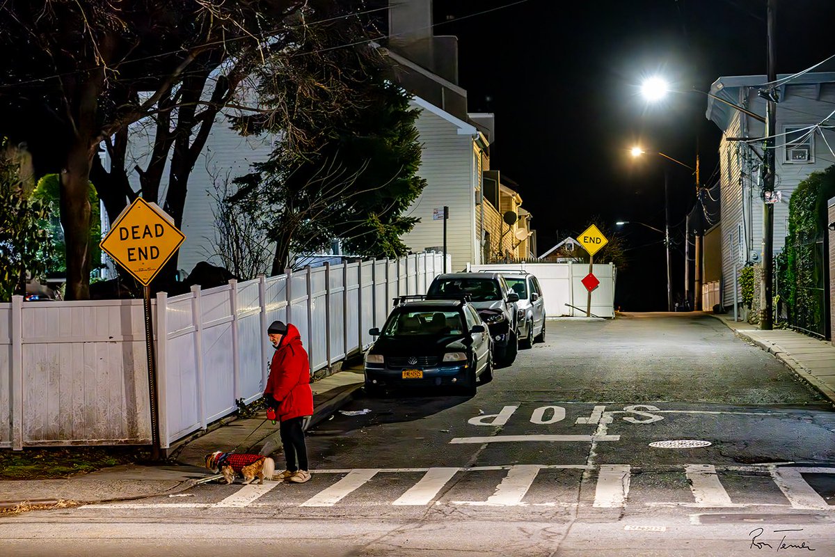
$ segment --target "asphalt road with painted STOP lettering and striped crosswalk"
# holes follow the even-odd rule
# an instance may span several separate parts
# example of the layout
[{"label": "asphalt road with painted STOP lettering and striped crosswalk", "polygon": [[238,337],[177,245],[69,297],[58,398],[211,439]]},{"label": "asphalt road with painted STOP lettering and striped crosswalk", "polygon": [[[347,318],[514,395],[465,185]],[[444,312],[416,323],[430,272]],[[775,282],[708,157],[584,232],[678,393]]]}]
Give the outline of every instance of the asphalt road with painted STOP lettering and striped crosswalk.
[{"label": "asphalt road with painted STOP lettering and striped crosswalk", "polygon": [[343,411],[308,484],[0,519],[2,554],[835,555],[832,406],[710,316],[549,322],[475,397]]}]

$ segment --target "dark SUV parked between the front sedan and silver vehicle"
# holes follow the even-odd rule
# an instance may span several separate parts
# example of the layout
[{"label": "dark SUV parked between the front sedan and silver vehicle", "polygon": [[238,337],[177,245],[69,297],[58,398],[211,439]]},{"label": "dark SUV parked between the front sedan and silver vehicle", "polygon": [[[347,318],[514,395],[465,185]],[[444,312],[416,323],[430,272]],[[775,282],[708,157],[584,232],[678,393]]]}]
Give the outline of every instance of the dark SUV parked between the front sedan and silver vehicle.
[{"label": "dark SUV parked between the front sedan and silver vehicle", "polygon": [[428,298],[468,297],[470,303],[487,323],[493,337],[493,359],[509,365],[519,349],[519,326],[516,302],[519,295],[509,286],[504,276],[496,272],[448,273],[438,275],[427,292]]}]

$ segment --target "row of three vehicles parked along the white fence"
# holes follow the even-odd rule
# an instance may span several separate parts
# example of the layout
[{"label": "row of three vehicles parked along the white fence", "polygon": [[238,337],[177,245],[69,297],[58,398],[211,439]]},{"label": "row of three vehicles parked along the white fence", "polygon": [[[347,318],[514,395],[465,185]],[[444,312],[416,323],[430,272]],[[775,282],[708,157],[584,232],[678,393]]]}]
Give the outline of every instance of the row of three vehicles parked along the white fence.
[{"label": "row of three vehicles parked along the white fence", "polygon": [[[401,296],[365,357],[372,396],[405,386],[460,387],[475,394],[493,367],[509,366],[521,344],[544,342],[544,298],[525,271],[436,276],[426,295]],[[521,339],[521,340],[520,340]]]}]

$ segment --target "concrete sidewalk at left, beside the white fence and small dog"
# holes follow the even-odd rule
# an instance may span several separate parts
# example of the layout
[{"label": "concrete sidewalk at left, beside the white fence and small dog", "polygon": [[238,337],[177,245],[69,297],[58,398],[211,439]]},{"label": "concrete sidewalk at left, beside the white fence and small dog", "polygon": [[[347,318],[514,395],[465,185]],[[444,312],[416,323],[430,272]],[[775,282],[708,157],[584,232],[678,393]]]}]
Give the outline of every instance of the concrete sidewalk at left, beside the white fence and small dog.
[{"label": "concrete sidewalk at left, beside the white fence and small dog", "polygon": [[[326,420],[350,401],[362,387],[362,382],[362,363],[313,382],[314,414],[308,427]],[[206,454],[230,451],[235,447],[238,447],[239,453],[271,454],[278,451],[281,448],[278,425],[266,421],[266,412],[261,412],[256,418],[223,420],[219,427],[210,428],[208,433],[172,447],[169,462],[159,466],[130,464],[68,479],[0,481],[0,511],[160,495],[177,497],[180,492],[210,475],[204,465]],[[281,464],[283,460],[276,466]]]}]

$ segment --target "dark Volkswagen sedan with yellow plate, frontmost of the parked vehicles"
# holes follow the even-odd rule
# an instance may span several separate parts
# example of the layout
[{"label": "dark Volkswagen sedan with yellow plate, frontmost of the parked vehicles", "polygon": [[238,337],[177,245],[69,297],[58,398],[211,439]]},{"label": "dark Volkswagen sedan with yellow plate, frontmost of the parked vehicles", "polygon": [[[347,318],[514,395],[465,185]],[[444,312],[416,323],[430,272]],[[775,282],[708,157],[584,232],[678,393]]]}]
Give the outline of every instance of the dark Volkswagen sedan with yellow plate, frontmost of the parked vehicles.
[{"label": "dark Volkswagen sedan with yellow plate, frontmost of the parked vehicles", "polygon": [[396,306],[365,356],[365,388],[461,387],[475,394],[493,378],[490,335],[468,301],[420,300]]}]

